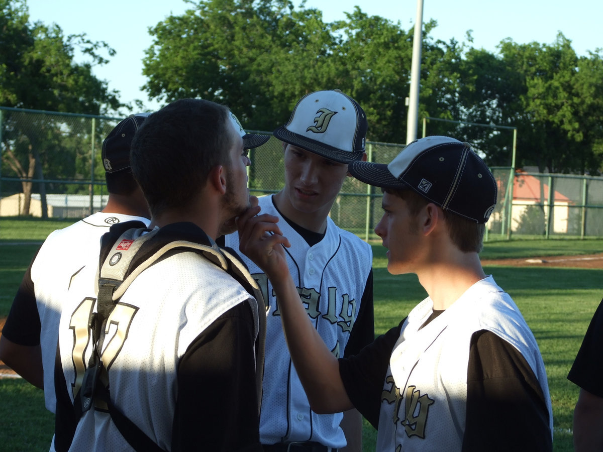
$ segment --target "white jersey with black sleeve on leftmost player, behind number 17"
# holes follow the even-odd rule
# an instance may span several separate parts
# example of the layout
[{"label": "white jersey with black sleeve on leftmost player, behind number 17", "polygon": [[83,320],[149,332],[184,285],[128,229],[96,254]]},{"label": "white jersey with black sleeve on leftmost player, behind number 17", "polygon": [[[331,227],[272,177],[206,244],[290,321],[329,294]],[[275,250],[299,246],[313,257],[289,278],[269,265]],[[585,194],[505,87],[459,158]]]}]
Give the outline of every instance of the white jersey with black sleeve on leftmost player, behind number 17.
[{"label": "white jersey with black sleeve on leftmost player, behind number 17", "polygon": [[[4,333],[7,339],[21,345],[28,344],[22,337],[40,338],[44,369],[44,398],[46,408],[55,412],[54,359],[57,353],[57,334],[60,312],[72,278],[86,265],[98,266],[100,239],[116,223],[137,220],[149,224],[147,218],[98,212],[66,228],[53,231],[24,276]],[[34,303],[37,312],[33,311]],[[25,310],[28,310],[27,312]],[[17,312],[20,314],[17,315]],[[41,329],[31,320],[38,315]],[[36,328],[34,331],[32,328]]]}]

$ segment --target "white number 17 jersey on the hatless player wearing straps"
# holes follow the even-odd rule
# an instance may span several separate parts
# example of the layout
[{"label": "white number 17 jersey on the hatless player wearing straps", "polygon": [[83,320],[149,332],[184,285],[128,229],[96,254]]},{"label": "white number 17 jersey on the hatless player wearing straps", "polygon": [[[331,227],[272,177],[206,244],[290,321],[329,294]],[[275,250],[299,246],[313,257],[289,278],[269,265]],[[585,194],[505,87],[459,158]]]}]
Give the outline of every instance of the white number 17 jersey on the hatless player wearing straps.
[{"label": "white number 17 jersey on the hatless player wearing straps", "polygon": [[[183,225],[189,227],[187,225],[190,224]],[[203,233],[198,228],[196,230]],[[119,250],[119,246],[121,244],[116,250]],[[172,430],[180,425],[174,420],[176,416],[183,418],[182,422],[185,423],[188,422],[187,418],[192,419],[197,424],[197,430],[203,430],[204,416],[223,416],[216,414],[218,407],[213,406],[215,401],[205,401],[210,406],[195,404],[194,412],[190,408],[182,412],[182,401],[196,400],[201,392],[214,392],[218,400],[229,405],[226,409],[232,414],[240,406],[229,404],[232,400],[230,391],[238,400],[244,399],[241,391],[237,391],[240,388],[226,385],[226,381],[222,383],[225,378],[220,378],[219,382],[227,388],[221,388],[219,384],[213,385],[200,375],[184,371],[183,362],[197,360],[195,366],[208,368],[207,374],[215,374],[216,377],[222,372],[236,374],[236,380],[242,380],[241,385],[253,388],[252,392],[256,394],[256,337],[239,342],[245,334],[239,336],[241,330],[236,329],[236,325],[240,325],[240,321],[248,321],[253,333],[257,329],[257,316],[263,313],[259,314],[256,301],[235,278],[205,257],[192,251],[180,251],[166,256],[137,275],[116,304],[107,319],[110,327],[104,339],[102,356],[109,375],[113,403],[160,448],[172,450]],[[90,312],[96,309],[95,290],[91,284],[95,281],[94,274],[83,271],[74,278],[63,306],[59,348],[65,379],[60,382],[64,388],[60,393],[57,392],[60,404],[57,416],[63,413],[63,406],[67,406],[66,412],[69,413],[70,406],[64,403],[61,394],[66,392],[71,404],[74,402],[78,385],[81,385],[81,377],[89,362],[92,347],[87,322]],[[247,304],[251,309],[245,311],[246,318],[227,318],[224,320],[225,328],[221,324],[217,330],[212,330],[212,337],[208,339],[203,336],[211,330],[216,319]],[[231,328],[229,322],[230,325],[235,325],[232,327],[235,328],[235,334],[230,335],[230,342],[244,344],[244,350],[238,349],[239,354],[232,353],[230,345],[225,345],[228,341],[218,343],[214,340],[214,334]],[[257,331],[255,334],[257,335]],[[207,354],[195,357],[195,353],[204,344],[215,344],[214,348],[209,349],[213,350],[213,357]],[[221,354],[228,357],[221,357]],[[224,368],[216,368],[211,359],[221,363]],[[249,364],[246,368],[243,361]],[[181,394],[181,378],[189,382],[194,380],[194,387],[197,389]],[[244,418],[247,424],[254,425],[257,441],[258,405],[257,397],[253,394],[245,394],[245,398],[253,400],[253,403],[242,400],[241,404],[250,407]],[[253,416],[256,418],[255,424]],[[188,430],[189,433],[194,433],[194,428]],[[230,431],[227,432],[230,437],[238,434],[241,433],[232,432],[231,435]],[[212,450],[221,450],[217,444],[207,442],[206,445]],[[259,447],[259,442],[257,445]],[[187,447],[181,448],[187,450]],[[51,450],[58,450],[58,446],[53,443]],[[119,433],[109,413],[97,406],[96,409],[84,412],[69,447],[69,451],[84,450],[130,451],[132,448]]]}]

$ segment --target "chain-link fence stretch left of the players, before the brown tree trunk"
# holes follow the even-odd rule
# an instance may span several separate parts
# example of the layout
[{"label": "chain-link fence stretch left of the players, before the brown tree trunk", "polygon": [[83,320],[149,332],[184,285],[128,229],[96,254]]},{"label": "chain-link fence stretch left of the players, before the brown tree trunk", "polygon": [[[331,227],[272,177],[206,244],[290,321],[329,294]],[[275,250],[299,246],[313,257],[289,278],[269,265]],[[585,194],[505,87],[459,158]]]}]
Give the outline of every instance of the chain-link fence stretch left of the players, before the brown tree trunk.
[{"label": "chain-link fence stretch left of the players, before the brown tree trunk", "polygon": [[0,107],[0,216],[83,218],[102,209],[101,148],[121,119]]}]

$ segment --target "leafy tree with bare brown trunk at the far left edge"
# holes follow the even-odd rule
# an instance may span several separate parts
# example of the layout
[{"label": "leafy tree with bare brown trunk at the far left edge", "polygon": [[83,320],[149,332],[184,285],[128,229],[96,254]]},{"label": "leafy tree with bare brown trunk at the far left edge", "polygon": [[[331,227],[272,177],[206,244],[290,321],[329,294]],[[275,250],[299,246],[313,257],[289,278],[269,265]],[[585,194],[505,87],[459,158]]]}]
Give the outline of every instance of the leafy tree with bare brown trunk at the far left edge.
[{"label": "leafy tree with bare brown trunk at the far left edge", "polygon": [[[0,0],[0,105],[99,115],[127,105],[118,101],[118,92],[109,92],[107,82],[92,74],[95,64],[108,60],[99,51],[115,54],[104,42],[91,42],[85,34],[64,36],[58,25],[30,24],[25,0]],[[75,63],[75,48],[91,62]],[[31,178],[43,179],[43,156],[49,137],[43,130],[56,130],[52,117],[40,116],[22,127],[5,120],[2,141],[8,166],[22,178],[29,213]],[[43,215],[46,216],[45,186],[40,184]]]}]

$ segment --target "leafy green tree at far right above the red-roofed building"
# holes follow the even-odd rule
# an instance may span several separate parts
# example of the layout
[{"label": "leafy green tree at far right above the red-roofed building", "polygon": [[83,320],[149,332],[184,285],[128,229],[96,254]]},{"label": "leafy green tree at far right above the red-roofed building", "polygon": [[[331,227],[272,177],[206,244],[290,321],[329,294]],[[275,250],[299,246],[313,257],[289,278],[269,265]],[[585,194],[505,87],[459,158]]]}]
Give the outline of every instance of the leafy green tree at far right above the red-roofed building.
[{"label": "leafy green tree at far right above the red-roofed building", "polygon": [[[578,58],[558,34],[552,45],[500,42],[500,53],[470,49],[463,61],[464,119],[517,128],[516,166],[597,172],[603,113],[601,57]],[[511,164],[508,134],[472,129],[490,165]],[[598,144],[599,143],[599,144]]]}]

